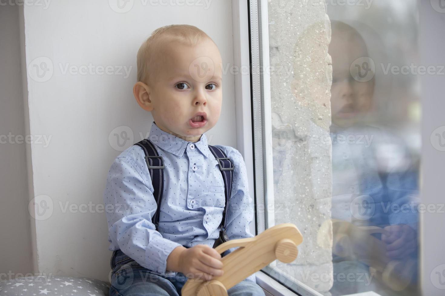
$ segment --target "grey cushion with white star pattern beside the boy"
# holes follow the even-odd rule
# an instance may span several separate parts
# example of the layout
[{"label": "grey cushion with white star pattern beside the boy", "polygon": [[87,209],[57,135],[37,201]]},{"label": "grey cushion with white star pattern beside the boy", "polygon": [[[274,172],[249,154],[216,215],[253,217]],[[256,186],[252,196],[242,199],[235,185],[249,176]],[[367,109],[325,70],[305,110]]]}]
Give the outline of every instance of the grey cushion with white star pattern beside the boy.
[{"label": "grey cushion with white star pattern beside the boy", "polygon": [[26,276],[0,281],[0,296],[108,296],[110,284],[74,276]]}]

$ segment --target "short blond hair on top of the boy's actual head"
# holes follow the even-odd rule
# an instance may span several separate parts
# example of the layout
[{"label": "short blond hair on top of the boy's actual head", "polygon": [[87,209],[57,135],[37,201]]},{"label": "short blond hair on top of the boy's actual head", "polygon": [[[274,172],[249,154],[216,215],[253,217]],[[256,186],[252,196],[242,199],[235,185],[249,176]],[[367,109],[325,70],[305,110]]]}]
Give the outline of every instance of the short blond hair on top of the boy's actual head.
[{"label": "short blond hair on top of the boy's actual head", "polygon": [[195,46],[204,39],[212,40],[204,31],[192,25],[167,25],[154,30],[138,50],[138,81],[149,83],[150,72],[154,70],[157,56],[162,54],[165,43],[179,41]]}]

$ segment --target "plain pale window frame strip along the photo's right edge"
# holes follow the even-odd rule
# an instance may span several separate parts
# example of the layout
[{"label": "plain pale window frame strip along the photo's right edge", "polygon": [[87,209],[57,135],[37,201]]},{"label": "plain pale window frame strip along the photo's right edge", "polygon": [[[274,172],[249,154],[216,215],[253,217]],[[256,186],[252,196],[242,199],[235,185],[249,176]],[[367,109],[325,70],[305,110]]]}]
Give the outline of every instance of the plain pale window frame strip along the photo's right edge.
[{"label": "plain pale window frame strip along the photo's right edge", "polygon": [[[445,65],[443,33],[437,28],[445,27],[445,13],[433,9],[430,1],[418,0],[420,65]],[[431,136],[439,126],[445,126],[445,83],[443,75],[421,76],[421,203],[441,205],[443,199],[443,176],[445,175],[445,151],[432,145]],[[420,286],[424,296],[444,295],[445,290],[434,286],[431,280],[435,268],[445,264],[445,214],[421,213],[420,215]],[[443,286],[441,288],[444,288]]]}]

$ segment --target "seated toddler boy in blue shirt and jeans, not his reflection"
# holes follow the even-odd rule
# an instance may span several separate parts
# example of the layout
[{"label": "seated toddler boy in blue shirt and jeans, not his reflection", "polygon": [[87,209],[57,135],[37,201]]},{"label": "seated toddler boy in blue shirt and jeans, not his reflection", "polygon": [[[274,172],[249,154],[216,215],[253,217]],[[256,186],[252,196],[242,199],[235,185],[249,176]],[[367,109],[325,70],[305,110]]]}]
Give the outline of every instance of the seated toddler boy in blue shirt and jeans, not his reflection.
[{"label": "seated toddler boy in blue shirt and jeans, not his reflection", "polygon": [[[169,25],[142,44],[137,65],[134,97],[153,115],[148,139],[163,158],[164,185],[156,228],[157,200],[142,148],[123,151],[109,170],[105,204],[124,209],[107,212],[114,251],[110,295],[181,295],[188,277],[210,280],[223,274],[221,255],[212,246],[221,230],[225,185],[205,134],[221,112],[222,59],[200,29]],[[243,157],[230,146],[216,147],[234,166],[226,233],[229,239],[253,237]],[[228,294],[264,292],[252,275]]]}]

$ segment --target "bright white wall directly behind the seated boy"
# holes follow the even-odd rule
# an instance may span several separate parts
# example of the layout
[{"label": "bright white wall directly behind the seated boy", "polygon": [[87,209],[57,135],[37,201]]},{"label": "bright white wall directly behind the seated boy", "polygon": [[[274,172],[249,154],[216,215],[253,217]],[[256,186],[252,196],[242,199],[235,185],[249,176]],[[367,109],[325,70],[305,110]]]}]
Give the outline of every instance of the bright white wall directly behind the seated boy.
[{"label": "bright white wall directly behind the seated boy", "polygon": [[[136,53],[142,41],[163,25],[192,24],[214,39],[223,63],[233,63],[231,1],[210,1],[208,7],[206,1],[197,1],[203,6],[150,5],[150,1],[144,6],[145,2],[129,1],[133,7],[123,13],[111,8],[116,3],[113,0],[24,6],[30,132],[49,139],[49,145],[42,140],[31,146],[30,181],[34,195],[48,196],[44,197],[47,205],[53,205],[39,216],[43,220],[36,220],[34,255],[40,272],[108,280],[111,252],[105,213],[63,213],[63,208],[66,203],[102,204],[106,174],[120,153],[113,134],[128,130],[122,126],[133,132],[124,149],[141,139],[139,133],[145,138],[150,129],[151,115],[138,106],[132,94]],[[133,68],[128,78],[123,77],[125,72],[63,73],[67,64],[80,67],[89,63]],[[38,77],[35,67],[40,67],[40,74],[42,68],[50,71]],[[221,118],[207,132],[210,144],[236,147],[235,128],[234,78],[227,74]],[[40,197],[36,201],[43,205]]]}]

